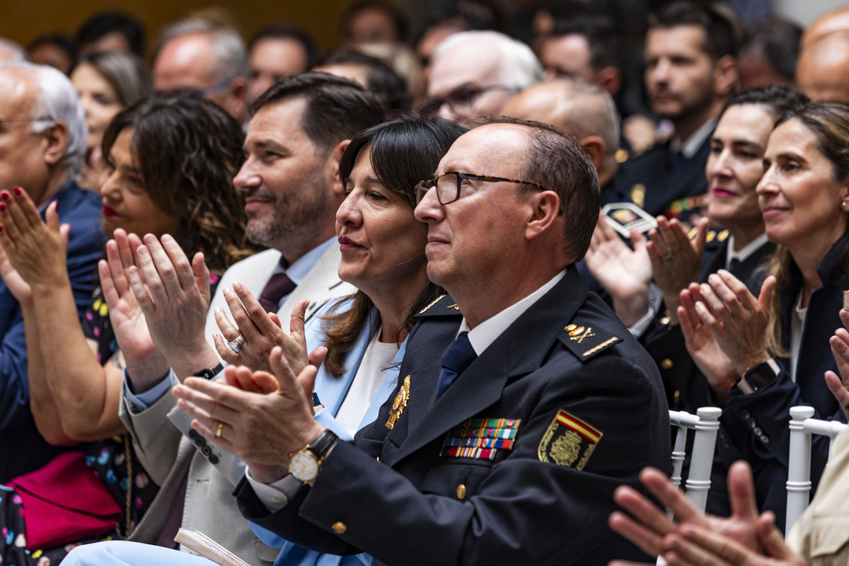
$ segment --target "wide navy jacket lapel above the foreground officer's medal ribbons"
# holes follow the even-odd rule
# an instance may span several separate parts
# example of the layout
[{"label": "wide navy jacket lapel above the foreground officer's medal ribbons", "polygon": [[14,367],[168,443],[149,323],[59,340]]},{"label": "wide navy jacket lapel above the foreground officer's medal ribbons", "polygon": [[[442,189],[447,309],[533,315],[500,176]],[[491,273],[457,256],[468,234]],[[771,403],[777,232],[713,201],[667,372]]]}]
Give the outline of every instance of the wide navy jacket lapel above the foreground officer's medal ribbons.
[{"label": "wide navy jacket lapel above the foreground officer's medal ribbons", "polygon": [[[431,367],[419,378],[419,400],[413,402],[413,376],[410,381],[408,436],[400,446],[395,462],[419,450],[431,440],[446,434],[453,426],[492,406],[504,384],[537,370],[551,349],[563,325],[575,314],[588,294],[580,275],[570,266],[554,289],[525,311],[466,368],[447,391],[436,400],[436,384],[441,367]],[[528,332],[528,328],[537,328]],[[445,352],[443,352],[444,358]],[[440,361],[441,365],[441,361]],[[415,416],[413,416],[415,415]],[[507,417],[512,415],[486,415]]]}]

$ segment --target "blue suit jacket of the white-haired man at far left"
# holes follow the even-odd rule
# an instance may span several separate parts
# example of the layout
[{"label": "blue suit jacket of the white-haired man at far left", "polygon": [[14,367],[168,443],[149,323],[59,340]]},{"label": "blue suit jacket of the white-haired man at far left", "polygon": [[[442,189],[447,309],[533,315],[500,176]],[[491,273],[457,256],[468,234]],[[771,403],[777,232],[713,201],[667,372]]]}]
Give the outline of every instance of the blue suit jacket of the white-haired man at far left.
[{"label": "blue suit jacket of the white-haired man at far left", "polygon": [[[55,199],[59,220],[70,224],[68,275],[80,316],[91,301],[98,260],[106,239],[100,220],[100,197],[70,182]],[[49,446],[38,434],[30,411],[26,378],[24,315],[18,300],[0,279],[0,482],[41,468],[64,449]],[[65,449],[66,450],[66,449]]]}]

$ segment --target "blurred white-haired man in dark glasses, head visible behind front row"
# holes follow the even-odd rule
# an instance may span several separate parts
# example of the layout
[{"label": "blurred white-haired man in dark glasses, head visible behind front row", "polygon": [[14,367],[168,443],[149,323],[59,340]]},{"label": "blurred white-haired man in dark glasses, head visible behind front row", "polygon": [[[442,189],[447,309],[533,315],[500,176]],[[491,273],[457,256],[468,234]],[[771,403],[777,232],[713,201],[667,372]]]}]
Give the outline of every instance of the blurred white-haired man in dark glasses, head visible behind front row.
[{"label": "blurred white-haired man in dark glasses, head visible behind front row", "polygon": [[448,36],[433,53],[425,112],[468,123],[498,114],[516,92],[543,80],[543,66],[525,43],[498,31]]}]

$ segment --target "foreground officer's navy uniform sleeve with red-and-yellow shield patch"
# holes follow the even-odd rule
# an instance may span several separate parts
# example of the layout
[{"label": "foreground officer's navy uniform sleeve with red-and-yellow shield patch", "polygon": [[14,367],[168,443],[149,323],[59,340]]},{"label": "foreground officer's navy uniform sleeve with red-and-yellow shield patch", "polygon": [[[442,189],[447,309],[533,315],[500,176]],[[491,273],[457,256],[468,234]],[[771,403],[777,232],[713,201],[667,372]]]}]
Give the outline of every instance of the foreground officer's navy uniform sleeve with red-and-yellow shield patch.
[{"label": "foreground officer's navy uniform sleeve with red-and-yellow shield patch", "polygon": [[[668,468],[668,432],[657,426],[666,403],[644,367],[624,356],[585,364],[569,356],[559,350],[521,378],[546,385],[528,400],[534,408],[503,457],[447,458],[414,485],[372,455],[340,443],[295,505],[252,514],[258,509],[242,492],[242,510],[301,546],[368,552],[387,564],[644,559],[609,530],[607,517],[617,485],[638,485],[636,475],[645,465]],[[436,439],[423,451],[439,451],[441,443]]]}]

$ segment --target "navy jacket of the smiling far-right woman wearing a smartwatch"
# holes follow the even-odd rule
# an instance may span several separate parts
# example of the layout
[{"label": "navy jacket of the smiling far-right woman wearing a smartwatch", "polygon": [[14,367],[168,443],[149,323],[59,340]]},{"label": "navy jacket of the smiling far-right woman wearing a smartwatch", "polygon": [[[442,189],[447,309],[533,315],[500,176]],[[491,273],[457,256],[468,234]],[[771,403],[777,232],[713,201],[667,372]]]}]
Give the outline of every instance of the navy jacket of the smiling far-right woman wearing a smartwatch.
[{"label": "navy jacket of the smiling far-right woman wearing a smartwatch", "polygon": [[[815,418],[846,422],[844,412],[823,378],[826,370],[837,372],[829,338],[836,328],[842,327],[838,312],[843,306],[843,291],[849,289],[849,274],[841,265],[846,243],[846,237],[838,240],[817,268],[823,286],[814,289],[808,301],[797,356],[796,383],[790,379],[790,361],[777,360],[782,367],[778,381],[753,395],[744,395],[735,385],[720,418],[721,439],[728,440],[728,443],[717,444],[720,455],[727,464],[740,458],[751,463],[758,507],[771,509],[778,518],[779,526],[784,525],[787,501],[785,485],[790,447],[790,407],[810,405],[816,409]],[[787,349],[790,349],[790,317],[796,316],[801,284],[801,273],[795,263],[791,264],[790,283],[779,289],[782,338]],[[814,490],[823,473],[828,452],[829,440],[814,435],[811,452]]]}]

